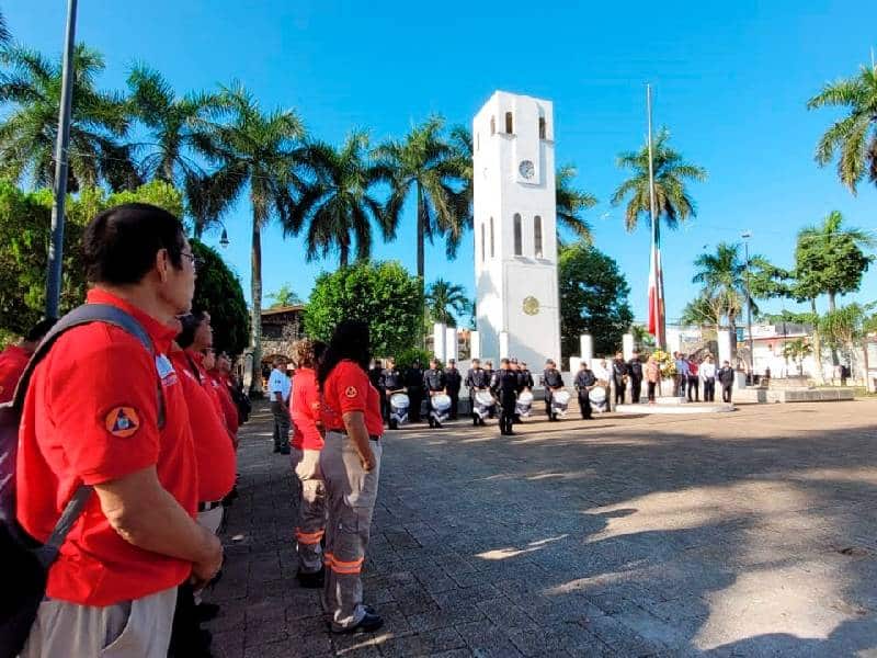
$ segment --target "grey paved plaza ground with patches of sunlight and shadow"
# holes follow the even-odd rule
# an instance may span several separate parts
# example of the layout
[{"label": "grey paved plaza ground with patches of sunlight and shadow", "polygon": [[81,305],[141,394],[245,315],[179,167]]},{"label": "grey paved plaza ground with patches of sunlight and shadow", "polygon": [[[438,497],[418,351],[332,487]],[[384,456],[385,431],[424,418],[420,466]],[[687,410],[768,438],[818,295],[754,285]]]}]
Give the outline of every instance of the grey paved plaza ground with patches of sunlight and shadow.
[{"label": "grey paved plaza ground with patches of sunlight and shadow", "polygon": [[353,637],[295,580],[270,431],[242,430],[217,656],[877,656],[877,400],[390,432],[386,624]]}]

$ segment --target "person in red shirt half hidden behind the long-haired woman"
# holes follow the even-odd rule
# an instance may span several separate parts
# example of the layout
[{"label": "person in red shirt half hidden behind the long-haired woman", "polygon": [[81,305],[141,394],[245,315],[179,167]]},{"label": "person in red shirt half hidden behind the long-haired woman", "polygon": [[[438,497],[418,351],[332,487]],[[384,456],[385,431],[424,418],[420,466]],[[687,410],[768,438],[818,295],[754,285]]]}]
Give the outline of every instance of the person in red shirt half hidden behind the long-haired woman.
[{"label": "person in red shirt half hidden behind the long-haired woman", "polygon": [[326,532],[326,487],[320,470],[322,421],[317,373],[314,367],[326,351],[326,343],[299,340],[293,348],[295,386],[289,402],[293,415],[292,463],[301,483],[298,524],[295,529],[298,553],[298,582],[301,587],[323,586],[322,540]]}]

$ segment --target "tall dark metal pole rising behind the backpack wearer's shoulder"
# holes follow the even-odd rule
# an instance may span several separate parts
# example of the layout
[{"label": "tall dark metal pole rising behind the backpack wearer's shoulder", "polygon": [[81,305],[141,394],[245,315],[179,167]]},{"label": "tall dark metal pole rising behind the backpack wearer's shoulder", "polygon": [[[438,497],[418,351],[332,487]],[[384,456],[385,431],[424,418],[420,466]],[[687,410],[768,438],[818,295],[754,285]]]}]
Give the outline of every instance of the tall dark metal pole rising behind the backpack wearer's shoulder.
[{"label": "tall dark metal pole rising behind the backpack wearer's shoulder", "polygon": [[58,138],[55,143],[55,203],[52,206],[52,242],[46,269],[46,317],[57,318],[61,295],[64,259],[64,203],[67,197],[67,160],[70,144],[70,112],[73,101],[73,52],[76,49],[77,0],[67,1],[67,34],[61,65],[61,99]]}]

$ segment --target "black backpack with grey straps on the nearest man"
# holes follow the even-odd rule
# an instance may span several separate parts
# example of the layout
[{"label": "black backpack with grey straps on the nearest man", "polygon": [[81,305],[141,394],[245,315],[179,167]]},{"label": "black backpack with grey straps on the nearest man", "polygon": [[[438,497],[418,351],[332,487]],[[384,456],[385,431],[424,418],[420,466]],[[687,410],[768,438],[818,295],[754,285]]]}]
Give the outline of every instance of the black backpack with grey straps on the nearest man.
[{"label": "black backpack with grey straps on the nearest man", "polygon": [[[86,304],[64,316],[39,343],[19,381],[12,400],[0,405],[0,658],[18,656],[36,619],[46,591],[49,567],[58,557],[67,533],[76,523],[92,488],[81,485],[58,519],[52,535],[39,544],[15,519],[15,461],[24,397],[34,367],[48,354],[59,336],[82,325],[105,322],[124,329],[155,355],[149,334],[129,314],[109,304]],[[164,398],[158,383],[159,426],[164,423]]]}]

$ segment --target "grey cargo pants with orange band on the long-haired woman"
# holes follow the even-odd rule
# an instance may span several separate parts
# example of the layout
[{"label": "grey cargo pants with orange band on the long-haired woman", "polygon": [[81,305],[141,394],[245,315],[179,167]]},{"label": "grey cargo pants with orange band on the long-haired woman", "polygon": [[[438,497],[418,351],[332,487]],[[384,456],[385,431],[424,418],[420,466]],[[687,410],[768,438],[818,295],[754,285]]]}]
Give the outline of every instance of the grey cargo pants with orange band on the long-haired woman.
[{"label": "grey cargo pants with orange band on the long-haired woman", "polygon": [[372,530],[383,452],[379,441],[372,441],[371,445],[376,465],[368,473],[345,434],[327,432],[320,455],[329,507],[323,606],[335,629],[355,626],[365,615],[360,575]]}]

